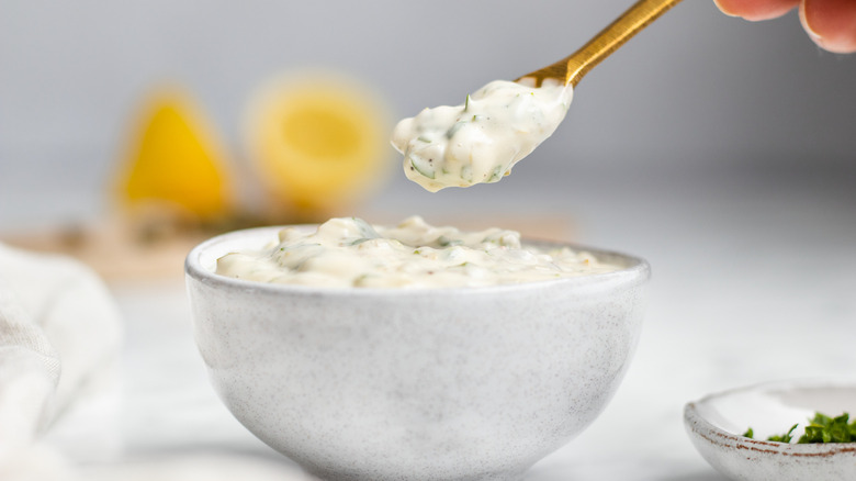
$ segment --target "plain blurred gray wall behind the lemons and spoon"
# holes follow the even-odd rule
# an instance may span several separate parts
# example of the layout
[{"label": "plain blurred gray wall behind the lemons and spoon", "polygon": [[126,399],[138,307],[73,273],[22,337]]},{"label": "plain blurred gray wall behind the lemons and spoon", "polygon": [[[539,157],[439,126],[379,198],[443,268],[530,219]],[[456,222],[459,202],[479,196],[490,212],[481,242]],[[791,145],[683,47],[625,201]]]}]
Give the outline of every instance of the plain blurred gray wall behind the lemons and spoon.
[{"label": "plain blurred gray wall behind the lemons and spoon", "polygon": [[[629,3],[2,0],[0,225],[103,211],[129,114],[162,81],[190,89],[240,153],[245,102],[278,72],[338,69],[409,116],[564,57]],[[585,216],[607,201],[573,195],[593,183],[710,170],[852,180],[854,87],[856,58],[816,48],[796,12],[753,24],[688,0],[590,72],[554,137],[500,184],[431,197],[390,149],[395,175],[375,204],[562,203]]]}]

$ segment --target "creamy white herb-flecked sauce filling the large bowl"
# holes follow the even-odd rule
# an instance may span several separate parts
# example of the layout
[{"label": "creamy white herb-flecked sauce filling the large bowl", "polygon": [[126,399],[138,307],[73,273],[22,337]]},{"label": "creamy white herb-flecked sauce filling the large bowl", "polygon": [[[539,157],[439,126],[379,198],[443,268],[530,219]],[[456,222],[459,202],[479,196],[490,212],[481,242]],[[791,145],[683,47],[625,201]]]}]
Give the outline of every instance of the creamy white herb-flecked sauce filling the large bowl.
[{"label": "creamy white herb-flecked sauce filling the large bowl", "polygon": [[421,217],[396,226],[333,219],[286,227],[279,243],[217,260],[223,276],[261,282],[359,288],[481,287],[610,272],[620,267],[567,247],[522,245],[514,231],[461,232]]}]

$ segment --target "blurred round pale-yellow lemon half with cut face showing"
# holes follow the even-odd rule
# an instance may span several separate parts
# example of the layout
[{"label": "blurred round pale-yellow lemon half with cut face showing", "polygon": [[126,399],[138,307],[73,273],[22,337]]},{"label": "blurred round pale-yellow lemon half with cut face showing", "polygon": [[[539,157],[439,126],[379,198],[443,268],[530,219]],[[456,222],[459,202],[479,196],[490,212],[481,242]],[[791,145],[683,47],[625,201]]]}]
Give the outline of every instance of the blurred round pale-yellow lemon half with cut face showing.
[{"label": "blurred round pale-yellow lemon half with cut face showing", "polygon": [[386,177],[387,118],[370,89],[316,71],[259,89],[245,138],[269,191],[307,216],[345,206]]}]

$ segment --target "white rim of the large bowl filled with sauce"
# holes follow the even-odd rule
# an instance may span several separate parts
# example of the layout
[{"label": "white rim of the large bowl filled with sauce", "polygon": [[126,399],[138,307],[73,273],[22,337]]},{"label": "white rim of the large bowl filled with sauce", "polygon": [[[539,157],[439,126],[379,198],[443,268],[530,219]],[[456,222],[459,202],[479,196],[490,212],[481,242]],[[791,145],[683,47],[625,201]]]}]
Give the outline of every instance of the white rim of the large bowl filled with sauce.
[{"label": "white rim of the large bowl filled with sauce", "polygon": [[592,253],[596,257],[607,257],[621,259],[627,262],[628,267],[615,270],[611,272],[593,273],[586,276],[567,277],[561,279],[549,279],[542,281],[530,281],[520,283],[505,283],[495,286],[483,287],[416,287],[416,288],[354,288],[354,287],[330,287],[330,286],[302,286],[302,284],[288,284],[275,282],[261,282],[247,279],[236,279],[226,276],[215,273],[213,270],[202,265],[201,256],[203,253],[211,248],[215,248],[226,242],[246,238],[261,238],[262,235],[272,235],[272,239],[275,239],[275,234],[285,227],[301,227],[301,228],[315,228],[319,224],[296,224],[296,225],[271,225],[261,227],[249,227],[237,231],[230,231],[223,234],[210,237],[196,246],[194,246],[184,258],[184,273],[185,277],[195,279],[209,286],[218,286],[223,288],[232,288],[238,290],[254,290],[264,291],[271,293],[316,293],[316,294],[330,294],[330,295],[450,295],[452,293],[504,293],[509,291],[522,292],[530,290],[544,289],[551,286],[562,286],[563,288],[586,288],[594,287],[604,283],[613,283],[624,281],[627,283],[642,283],[651,277],[651,266],[647,260],[623,254],[616,250],[600,249],[594,247],[587,247],[574,243],[549,240],[523,237],[523,242],[530,245],[541,246],[565,246],[572,249],[585,250]]}]

